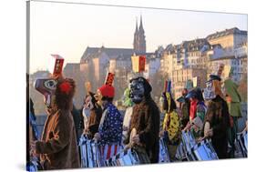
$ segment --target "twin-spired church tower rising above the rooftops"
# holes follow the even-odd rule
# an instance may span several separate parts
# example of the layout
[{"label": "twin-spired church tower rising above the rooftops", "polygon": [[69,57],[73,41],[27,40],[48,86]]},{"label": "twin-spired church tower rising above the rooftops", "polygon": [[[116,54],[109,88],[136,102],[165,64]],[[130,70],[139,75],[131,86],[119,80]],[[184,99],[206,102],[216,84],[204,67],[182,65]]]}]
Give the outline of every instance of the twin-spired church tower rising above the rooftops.
[{"label": "twin-spired church tower rising above the rooftops", "polygon": [[138,21],[136,19],[136,28],[134,33],[133,40],[133,49],[135,53],[146,53],[146,39],[145,39],[145,31],[142,25],[142,16],[140,15],[140,23],[138,27]]}]

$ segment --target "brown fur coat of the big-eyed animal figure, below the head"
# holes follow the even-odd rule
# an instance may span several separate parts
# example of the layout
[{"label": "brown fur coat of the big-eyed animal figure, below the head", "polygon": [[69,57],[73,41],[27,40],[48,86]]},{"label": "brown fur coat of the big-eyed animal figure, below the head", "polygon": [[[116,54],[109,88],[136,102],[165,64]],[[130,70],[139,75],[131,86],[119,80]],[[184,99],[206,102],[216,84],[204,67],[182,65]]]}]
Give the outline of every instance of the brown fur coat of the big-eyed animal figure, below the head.
[{"label": "brown fur coat of the big-eyed animal figure, below the head", "polygon": [[47,116],[41,141],[36,142],[44,169],[80,167],[76,129],[68,110]]}]

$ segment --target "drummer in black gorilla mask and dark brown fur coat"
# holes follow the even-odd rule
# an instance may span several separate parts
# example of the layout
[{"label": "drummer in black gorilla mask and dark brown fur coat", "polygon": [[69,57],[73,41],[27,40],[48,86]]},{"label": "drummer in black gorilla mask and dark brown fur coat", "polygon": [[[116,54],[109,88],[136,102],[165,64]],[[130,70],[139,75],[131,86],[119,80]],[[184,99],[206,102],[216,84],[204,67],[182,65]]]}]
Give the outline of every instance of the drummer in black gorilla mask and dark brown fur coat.
[{"label": "drummer in black gorilla mask and dark brown fur coat", "polygon": [[[131,133],[136,133],[133,137],[126,139],[135,146],[145,150],[150,162],[159,162],[159,107],[150,96],[152,87],[144,77],[137,77],[130,80],[130,97],[135,103],[133,106],[130,129]],[[133,132],[132,132],[133,131]],[[135,131],[135,132],[134,132]]]}]

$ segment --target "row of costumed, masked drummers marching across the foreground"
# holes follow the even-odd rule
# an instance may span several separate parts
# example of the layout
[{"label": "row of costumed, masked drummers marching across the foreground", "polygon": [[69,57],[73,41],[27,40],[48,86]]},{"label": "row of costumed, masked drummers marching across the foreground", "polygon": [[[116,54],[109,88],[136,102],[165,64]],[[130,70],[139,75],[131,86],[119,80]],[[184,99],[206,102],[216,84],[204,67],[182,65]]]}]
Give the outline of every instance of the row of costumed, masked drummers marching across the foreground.
[{"label": "row of costumed, masked drummers marching across the foreground", "polygon": [[130,79],[123,96],[123,116],[113,104],[112,83],[88,91],[79,110],[73,104],[76,83],[72,78],[37,79],[35,88],[44,95],[47,118],[39,138],[29,99],[28,164],[36,161],[37,169],[45,170],[87,167],[83,157],[87,152],[83,151],[88,149],[82,151],[83,140],[97,146],[98,164],[93,167],[106,167],[110,158],[129,150],[136,152],[139,164],[159,163],[163,148],[159,143],[164,143],[169,162],[181,161],[177,152],[182,133],[188,132],[196,143],[210,140],[218,159],[235,157],[238,119],[242,116],[238,86],[231,79],[210,75],[205,88],[184,88],[176,100],[170,86],[167,81],[165,89],[159,90],[157,106],[148,80],[142,76]]}]

